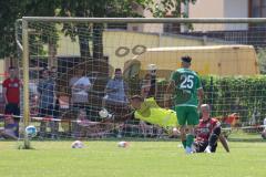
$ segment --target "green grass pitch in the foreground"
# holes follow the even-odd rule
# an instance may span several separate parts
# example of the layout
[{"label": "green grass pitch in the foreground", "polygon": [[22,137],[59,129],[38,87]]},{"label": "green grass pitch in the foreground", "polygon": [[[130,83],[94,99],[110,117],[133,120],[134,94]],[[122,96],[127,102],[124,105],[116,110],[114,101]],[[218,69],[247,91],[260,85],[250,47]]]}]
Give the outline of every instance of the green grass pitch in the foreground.
[{"label": "green grass pitch in the foreground", "polygon": [[180,142],[32,142],[35,149],[16,149],[14,142],[0,142],[0,177],[265,177],[265,142],[229,142],[215,154],[186,155]]}]

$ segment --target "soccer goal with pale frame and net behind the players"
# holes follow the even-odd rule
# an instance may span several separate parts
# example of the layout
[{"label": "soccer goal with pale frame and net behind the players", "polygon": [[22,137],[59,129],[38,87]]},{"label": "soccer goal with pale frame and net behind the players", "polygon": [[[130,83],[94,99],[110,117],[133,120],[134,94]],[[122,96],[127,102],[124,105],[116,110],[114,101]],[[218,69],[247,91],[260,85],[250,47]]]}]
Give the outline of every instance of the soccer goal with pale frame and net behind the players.
[{"label": "soccer goal with pale frame and net behind the players", "polygon": [[[259,138],[265,24],[266,19],[25,17],[17,25],[21,137],[29,142],[28,125],[37,127],[33,139],[175,137],[175,122],[153,121],[172,116],[164,110],[168,79],[181,56],[190,55],[204,103],[226,134],[238,127]],[[135,116],[133,95],[152,106]]]}]

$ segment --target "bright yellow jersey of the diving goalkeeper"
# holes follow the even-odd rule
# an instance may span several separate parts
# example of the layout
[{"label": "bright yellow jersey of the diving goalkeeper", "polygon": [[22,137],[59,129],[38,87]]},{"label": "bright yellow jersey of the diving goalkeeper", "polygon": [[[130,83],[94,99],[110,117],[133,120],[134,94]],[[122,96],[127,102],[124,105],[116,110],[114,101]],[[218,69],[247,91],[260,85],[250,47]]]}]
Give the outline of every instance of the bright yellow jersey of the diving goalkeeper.
[{"label": "bright yellow jersey of the diving goalkeeper", "polygon": [[158,125],[163,128],[176,127],[177,116],[173,110],[165,110],[157,105],[153,97],[146,98],[141,108],[135,111],[135,118],[150,124]]}]

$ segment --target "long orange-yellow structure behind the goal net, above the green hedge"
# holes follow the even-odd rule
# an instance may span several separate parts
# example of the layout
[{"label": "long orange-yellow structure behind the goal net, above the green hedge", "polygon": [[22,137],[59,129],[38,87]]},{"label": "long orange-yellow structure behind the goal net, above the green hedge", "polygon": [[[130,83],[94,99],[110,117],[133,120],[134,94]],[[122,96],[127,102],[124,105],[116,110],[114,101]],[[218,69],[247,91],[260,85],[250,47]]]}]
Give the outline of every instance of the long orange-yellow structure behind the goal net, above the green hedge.
[{"label": "long orange-yellow structure behind the goal net, above the green hedge", "polygon": [[151,63],[156,64],[158,76],[168,77],[171,71],[181,66],[183,55],[192,56],[192,69],[201,75],[259,74],[256,52],[250,45],[157,48],[139,55],[134,62],[140,61],[141,71]]}]

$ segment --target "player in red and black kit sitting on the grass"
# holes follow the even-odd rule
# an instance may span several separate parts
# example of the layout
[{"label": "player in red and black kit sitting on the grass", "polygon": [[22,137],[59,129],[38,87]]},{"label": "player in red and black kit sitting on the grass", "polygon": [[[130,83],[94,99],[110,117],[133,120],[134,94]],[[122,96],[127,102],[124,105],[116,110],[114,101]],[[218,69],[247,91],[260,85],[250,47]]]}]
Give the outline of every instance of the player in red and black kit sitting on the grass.
[{"label": "player in red and black kit sitting on the grass", "polygon": [[221,124],[216,118],[211,117],[208,104],[201,106],[202,118],[196,127],[196,139],[194,143],[195,153],[215,153],[219,139],[226,152],[229,152],[227,140],[221,134]]}]

